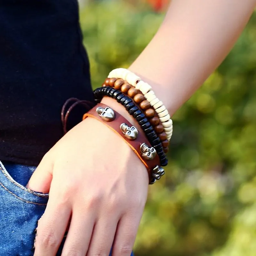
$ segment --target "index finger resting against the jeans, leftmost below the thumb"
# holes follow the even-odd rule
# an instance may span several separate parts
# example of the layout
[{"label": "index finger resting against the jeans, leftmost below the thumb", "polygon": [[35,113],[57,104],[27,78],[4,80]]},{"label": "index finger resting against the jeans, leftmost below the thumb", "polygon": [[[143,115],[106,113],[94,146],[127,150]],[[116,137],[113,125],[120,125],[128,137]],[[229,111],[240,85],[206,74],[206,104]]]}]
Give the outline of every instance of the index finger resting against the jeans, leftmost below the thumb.
[{"label": "index finger resting against the jeans, leftmost below the thumb", "polygon": [[70,219],[71,206],[51,195],[52,190],[44,215],[38,221],[35,256],[56,255]]}]

